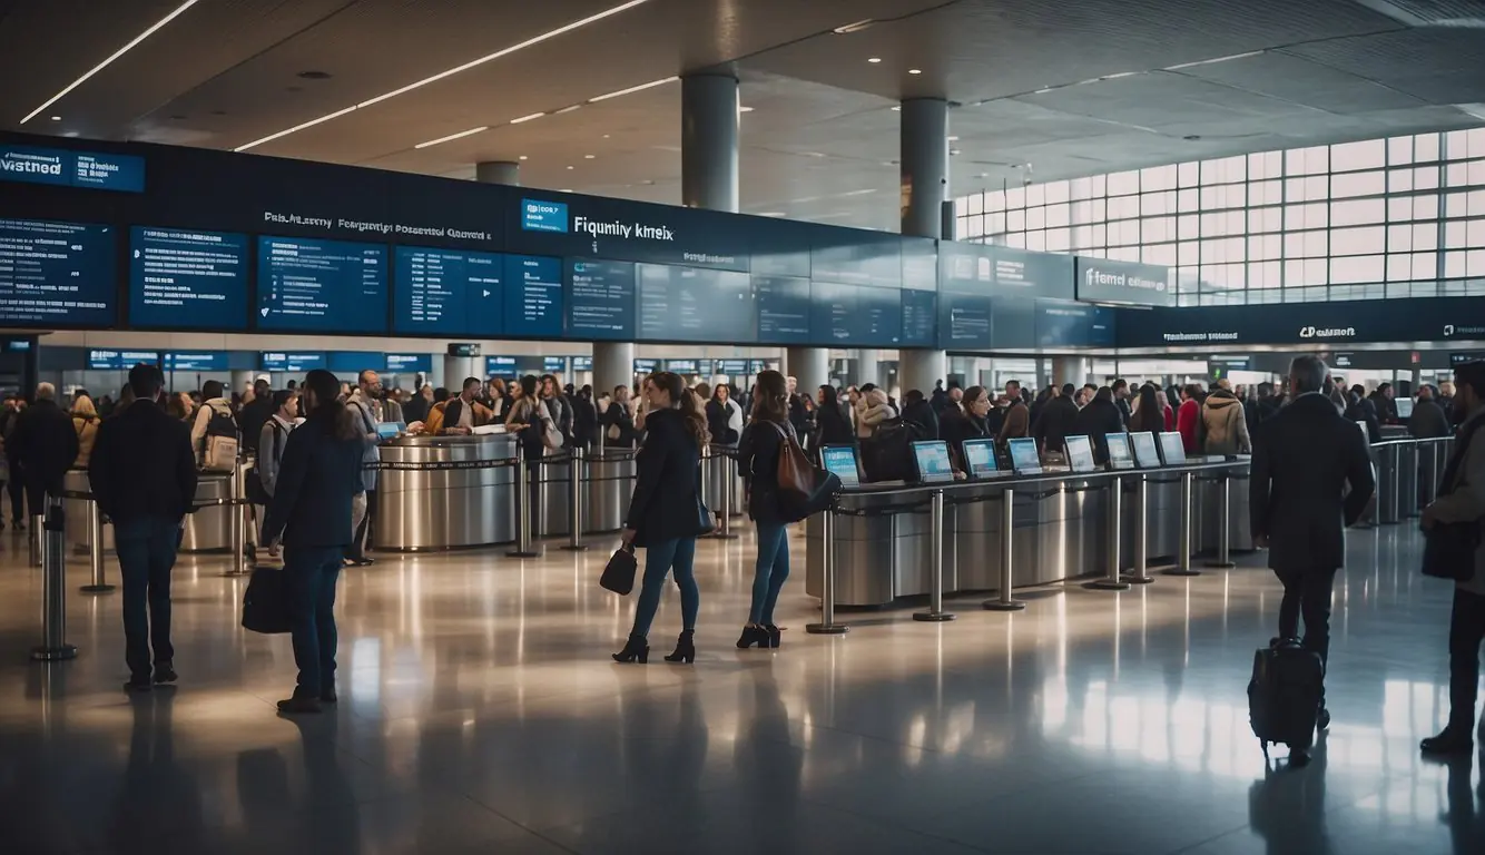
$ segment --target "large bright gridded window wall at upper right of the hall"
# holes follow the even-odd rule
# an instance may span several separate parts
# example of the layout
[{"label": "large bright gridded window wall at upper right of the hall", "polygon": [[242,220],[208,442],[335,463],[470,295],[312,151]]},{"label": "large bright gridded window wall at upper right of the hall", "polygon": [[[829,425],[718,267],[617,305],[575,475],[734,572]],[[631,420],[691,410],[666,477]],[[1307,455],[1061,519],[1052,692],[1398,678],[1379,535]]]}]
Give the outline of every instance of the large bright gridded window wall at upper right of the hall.
[{"label": "large bright gridded window wall at upper right of the hall", "polygon": [[955,200],[958,238],[1173,269],[1182,306],[1485,294],[1485,128]]}]

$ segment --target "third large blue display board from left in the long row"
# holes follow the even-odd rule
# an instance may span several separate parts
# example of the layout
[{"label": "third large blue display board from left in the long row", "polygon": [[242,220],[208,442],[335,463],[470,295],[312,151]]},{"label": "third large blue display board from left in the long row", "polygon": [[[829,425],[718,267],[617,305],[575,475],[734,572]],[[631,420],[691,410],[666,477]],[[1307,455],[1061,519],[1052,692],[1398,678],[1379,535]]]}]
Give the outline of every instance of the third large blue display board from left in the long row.
[{"label": "third large blue display board from left in the long row", "polygon": [[385,332],[386,248],[258,238],[260,330]]}]

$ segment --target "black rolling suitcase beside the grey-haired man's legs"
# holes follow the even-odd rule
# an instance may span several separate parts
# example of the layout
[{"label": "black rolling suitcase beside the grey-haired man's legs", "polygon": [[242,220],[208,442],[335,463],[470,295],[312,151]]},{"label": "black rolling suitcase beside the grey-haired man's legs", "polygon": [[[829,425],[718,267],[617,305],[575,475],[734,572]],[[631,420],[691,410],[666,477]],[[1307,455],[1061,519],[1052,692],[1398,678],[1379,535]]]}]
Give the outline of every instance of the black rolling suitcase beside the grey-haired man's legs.
[{"label": "black rolling suitcase beside the grey-haired man's legs", "polygon": [[1290,751],[1310,748],[1325,695],[1320,655],[1305,650],[1296,638],[1283,638],[1253,655],[1253,678],[1247,684],[1247,717],[1264,745],[1282,742]]}]

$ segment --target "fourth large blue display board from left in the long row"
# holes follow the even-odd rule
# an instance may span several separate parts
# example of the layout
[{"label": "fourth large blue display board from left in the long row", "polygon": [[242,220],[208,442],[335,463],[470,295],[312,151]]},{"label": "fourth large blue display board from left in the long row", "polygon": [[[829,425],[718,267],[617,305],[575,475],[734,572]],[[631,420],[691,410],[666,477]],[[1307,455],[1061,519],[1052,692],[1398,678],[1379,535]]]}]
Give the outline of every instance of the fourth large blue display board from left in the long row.
[{"label": "fourth large blue display board from left in the long row", "polygon": [[503,330],[506,258],[398,246],[392,270],[392,331],[407,334],[490,334]]}]

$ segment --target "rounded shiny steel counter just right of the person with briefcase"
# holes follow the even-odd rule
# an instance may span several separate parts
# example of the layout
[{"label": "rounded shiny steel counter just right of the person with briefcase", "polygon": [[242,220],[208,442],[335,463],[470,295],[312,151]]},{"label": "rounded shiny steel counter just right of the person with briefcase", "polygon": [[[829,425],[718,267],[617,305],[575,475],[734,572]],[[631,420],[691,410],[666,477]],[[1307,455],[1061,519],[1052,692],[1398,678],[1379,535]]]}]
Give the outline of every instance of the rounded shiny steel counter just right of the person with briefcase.
[{"label": "rounded shiny steel counter just right of the person with briefcase", "polygon": [[515,539],[515,436],[401,436],[380,445],[373,543],[417,552]]}]

